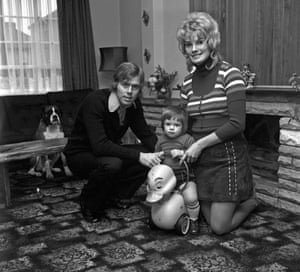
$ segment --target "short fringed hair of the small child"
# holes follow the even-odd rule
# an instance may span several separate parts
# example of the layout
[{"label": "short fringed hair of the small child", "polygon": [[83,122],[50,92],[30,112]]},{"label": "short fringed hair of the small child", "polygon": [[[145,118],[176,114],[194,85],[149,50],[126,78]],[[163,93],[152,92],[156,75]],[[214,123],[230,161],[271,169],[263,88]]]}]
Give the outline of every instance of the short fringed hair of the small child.
[{"label": "short fringed hair of the small child", "polygon": [[182,133],[185,133],[188,128],[188,115],[182,106],[168,106],[161,115],[161,127],[164,130],[165,120],[176,119],[182,123]]}]

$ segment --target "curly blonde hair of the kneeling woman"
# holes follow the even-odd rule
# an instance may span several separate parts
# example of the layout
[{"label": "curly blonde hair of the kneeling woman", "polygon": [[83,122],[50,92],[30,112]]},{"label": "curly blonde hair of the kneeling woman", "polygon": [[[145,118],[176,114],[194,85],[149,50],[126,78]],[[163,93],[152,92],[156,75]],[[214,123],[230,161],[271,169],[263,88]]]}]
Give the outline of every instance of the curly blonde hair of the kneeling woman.
[{"label": "curly blonde hair of the kneeling woman", "polygon": [[206,12],[191,12],[177,29],[178,47],[181,53],[185,56],[188,69],[193,66],[186,50],[185,43],[200,38],[207,39],[207,44],[211,50],[210,58],[211,65],[206,69],[211,70],[221,60],[221,55],[218,52],[218,47],[221,42],[219,26],[216,20]]}]

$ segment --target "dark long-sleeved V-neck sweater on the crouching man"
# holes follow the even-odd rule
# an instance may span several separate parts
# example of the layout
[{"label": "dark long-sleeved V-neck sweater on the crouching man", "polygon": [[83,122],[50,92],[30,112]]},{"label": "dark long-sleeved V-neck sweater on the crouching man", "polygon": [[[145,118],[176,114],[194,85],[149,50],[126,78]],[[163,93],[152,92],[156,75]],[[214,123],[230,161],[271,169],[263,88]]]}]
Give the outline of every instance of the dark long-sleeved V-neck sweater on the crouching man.
[{"label": "dark long-sleeved V-neck sweater on the crouching man", "polygon": [[118,111],[110,112],[110,90],[90,93],[79,107],[74,127],[65,148],[66,155],[92,152],[95,156],[121,159],[139,159],[139,151],[121,145],[121,139],[130,127],[149,152],[154,151],[157,138],[149,129],[139,99],[127,108],[120,124]]}]

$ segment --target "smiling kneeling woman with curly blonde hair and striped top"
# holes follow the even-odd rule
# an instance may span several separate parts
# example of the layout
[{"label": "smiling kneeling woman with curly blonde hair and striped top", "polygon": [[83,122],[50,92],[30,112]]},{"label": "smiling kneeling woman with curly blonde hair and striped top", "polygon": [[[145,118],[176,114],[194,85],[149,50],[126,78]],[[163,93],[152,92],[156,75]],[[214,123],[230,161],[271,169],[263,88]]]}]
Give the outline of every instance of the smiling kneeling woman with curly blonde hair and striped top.
[{"label": "smiling kneeling woman with curly blonde hair and striped top", "polygon": [[181,161],[194,163],[201,211],[217,234],[232,231],[257,206],[245,128],[245,83],[218,52],[217,22],[192,12],[177,30],[190,71],[181,97],[196,142]]}]

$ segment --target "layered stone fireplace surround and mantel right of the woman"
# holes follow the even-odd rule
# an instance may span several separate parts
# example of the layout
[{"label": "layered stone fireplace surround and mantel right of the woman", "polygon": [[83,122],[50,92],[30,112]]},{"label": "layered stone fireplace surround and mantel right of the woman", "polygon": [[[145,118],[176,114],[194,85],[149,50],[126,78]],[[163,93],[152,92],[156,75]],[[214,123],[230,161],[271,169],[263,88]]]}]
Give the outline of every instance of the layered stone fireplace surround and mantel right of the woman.
[{"label": "layered stone fireplace surround and mantel right of the woman", "polygon": [[[291,86],[249,88],[246,110],[247,117],[261,115],[278,119],[278,132],[274,123],[268,124],[271,134],[274,133],[278,137],[278,149],[271,152],[277,175],[275,173],[275,176],[267,176],[254,170],[258,197],[275,207],[300,213],[300,91]],[[263,126],[261,130],[260,133],[270,133]],[[274,143],[270,142],[269,146],[274,146]],[[268,160],[263,156],[263,152],[261,155],[261,164],[266,164]],[[257,156],[259,157],[259,152]]]}]

